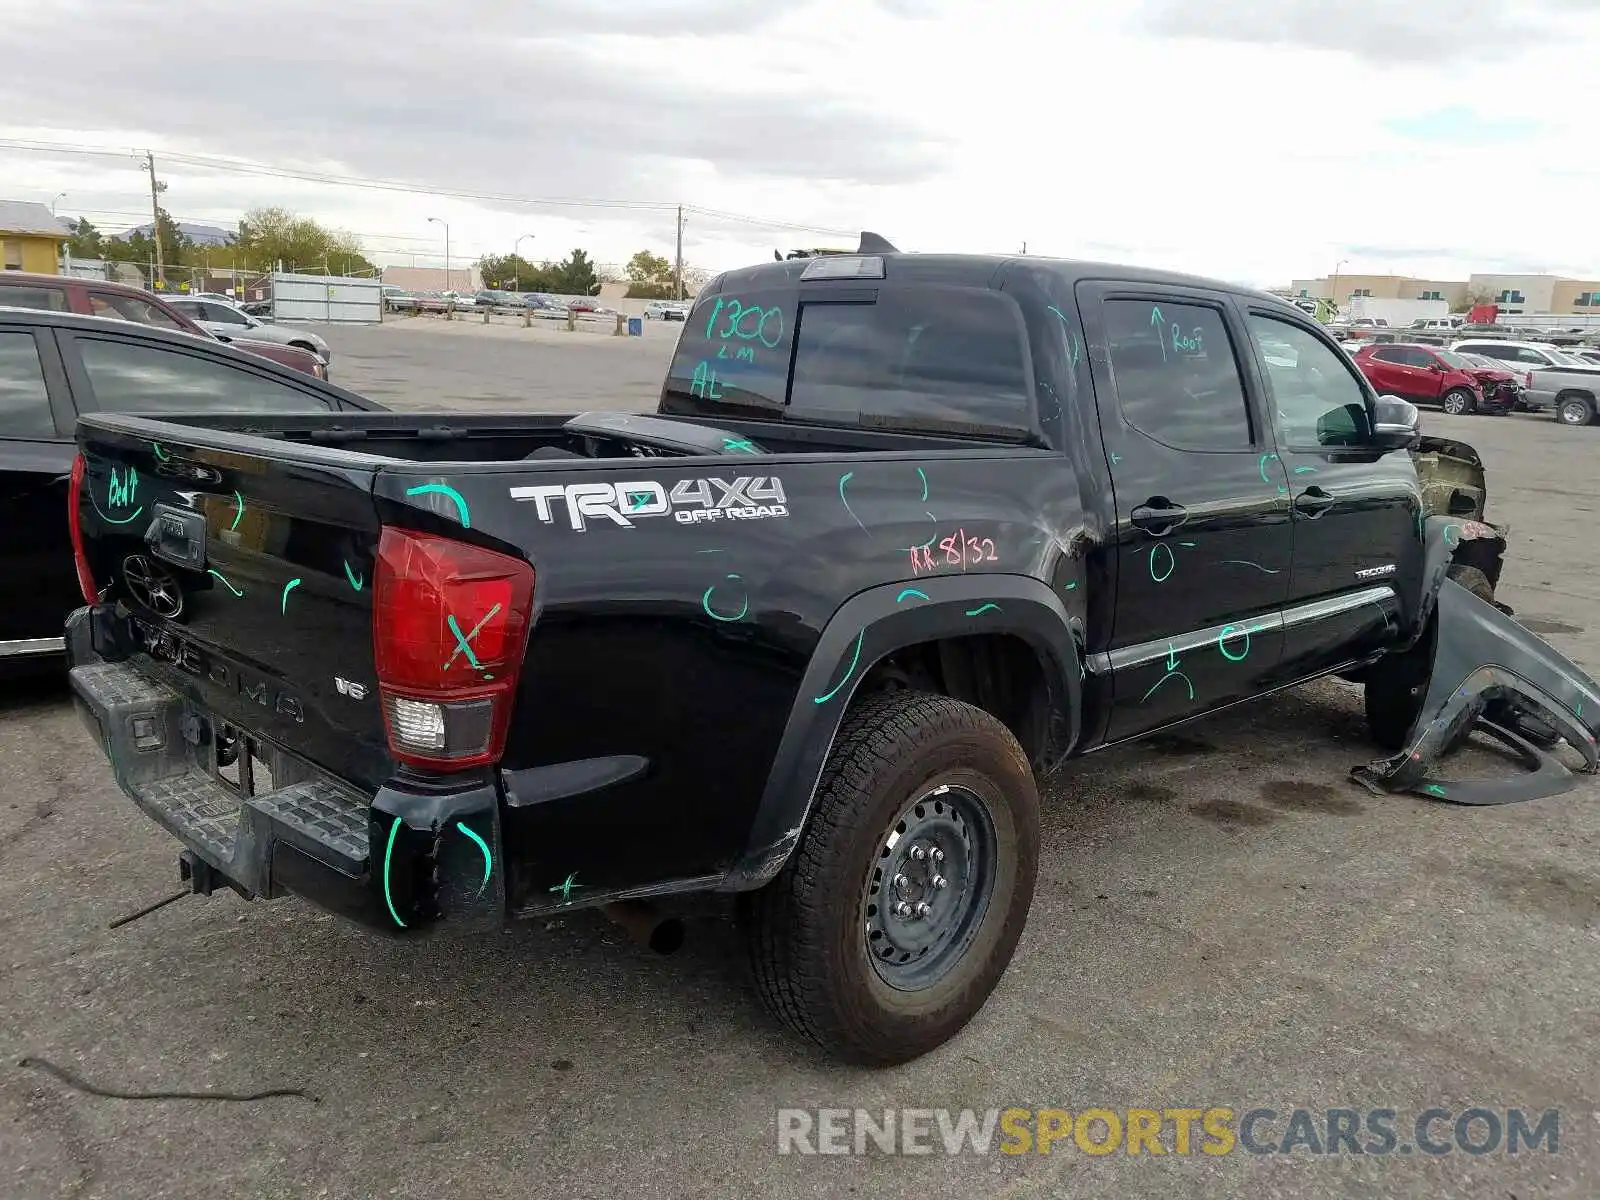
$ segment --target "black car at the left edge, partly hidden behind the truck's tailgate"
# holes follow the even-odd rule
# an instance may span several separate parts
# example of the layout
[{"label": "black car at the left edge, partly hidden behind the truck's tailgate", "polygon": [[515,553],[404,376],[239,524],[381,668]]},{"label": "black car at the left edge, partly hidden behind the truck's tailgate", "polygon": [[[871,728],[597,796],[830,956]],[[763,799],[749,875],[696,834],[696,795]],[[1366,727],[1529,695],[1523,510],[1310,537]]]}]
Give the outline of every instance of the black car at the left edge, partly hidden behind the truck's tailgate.
[{"label": "black car at the left edge, partly hidden behind the truck's tailgate", "polygon": [[0,674],[59,659],[61,624],[82,603],[67,534],[80,414],[355,411],[382,405],[219,341],[0,307]]}]

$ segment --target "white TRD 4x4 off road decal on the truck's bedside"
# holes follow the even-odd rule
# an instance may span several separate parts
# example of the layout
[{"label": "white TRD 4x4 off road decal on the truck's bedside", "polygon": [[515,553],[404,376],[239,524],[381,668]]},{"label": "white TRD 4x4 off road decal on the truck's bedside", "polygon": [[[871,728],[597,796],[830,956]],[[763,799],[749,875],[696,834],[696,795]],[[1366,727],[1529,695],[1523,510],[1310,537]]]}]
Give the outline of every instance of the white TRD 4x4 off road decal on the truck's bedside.
[{"label": "white TRD 4x4 off road decal on the truck's bedside", "polygon": [[784,485],[776,475],[739,475],[728,483],[717,475],[685,478],[666,488],[654,480],[626,483],[539,483],[512,488],[515,501],[533,501],[539,520],[555,520],[554,501],[566,504],[566,517],[582,533],[590,520],[605,518],[624,530],[638,517],[672,514],[680,525],[720,520],[787,517]]}]

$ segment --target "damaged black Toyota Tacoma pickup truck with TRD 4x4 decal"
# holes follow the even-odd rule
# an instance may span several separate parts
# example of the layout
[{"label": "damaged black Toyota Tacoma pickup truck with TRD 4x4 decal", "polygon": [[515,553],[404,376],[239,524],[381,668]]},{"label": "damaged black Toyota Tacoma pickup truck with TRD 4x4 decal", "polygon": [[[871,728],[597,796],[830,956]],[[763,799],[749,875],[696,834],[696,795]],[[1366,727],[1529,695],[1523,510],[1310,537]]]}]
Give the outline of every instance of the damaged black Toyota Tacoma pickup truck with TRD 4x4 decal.
[{"label": "damaged black Toyota Tacoma pickup truck with TRD 4x4 decal", "polygon": [[[744,893],[773,1011],[904,1061],[1005,971],[1072,755],[1341,674],[1371,786],[1594,768],[1416,418],[1272,296],[864,235],[717,278],[650,416],[83,418],[72,683],[195,891]],[[1429,776],[1491,704],[1538,770]]]}]

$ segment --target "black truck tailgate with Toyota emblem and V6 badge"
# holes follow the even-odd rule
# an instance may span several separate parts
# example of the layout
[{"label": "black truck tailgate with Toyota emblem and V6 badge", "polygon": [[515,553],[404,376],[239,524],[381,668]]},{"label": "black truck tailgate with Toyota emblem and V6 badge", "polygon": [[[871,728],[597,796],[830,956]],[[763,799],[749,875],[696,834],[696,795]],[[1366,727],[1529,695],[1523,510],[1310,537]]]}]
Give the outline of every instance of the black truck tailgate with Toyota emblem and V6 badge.
[{"label": "black truck tailgate with Toyota emblem and V6 badge", "polygon": [[384,459],[125,421],[78,434],[77,520],[106,632],[216,722],[374,789],[394,770],[371,634]]}]

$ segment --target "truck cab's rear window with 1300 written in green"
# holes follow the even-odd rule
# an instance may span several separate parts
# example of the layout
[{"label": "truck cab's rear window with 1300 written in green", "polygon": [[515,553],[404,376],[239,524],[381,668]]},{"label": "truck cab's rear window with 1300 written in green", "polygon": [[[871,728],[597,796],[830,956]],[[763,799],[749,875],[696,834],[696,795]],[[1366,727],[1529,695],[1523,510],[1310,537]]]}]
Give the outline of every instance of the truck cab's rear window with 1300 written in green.
[{"label": "truck cab's rear window with 1300 written in green", "polygon": [[702,298],[667,395],[680,411],[1005,437],[1029,432],[1034,411],[1016,302],[978,288],[880,288],[872,302],[802,302],[792,288]]}]

